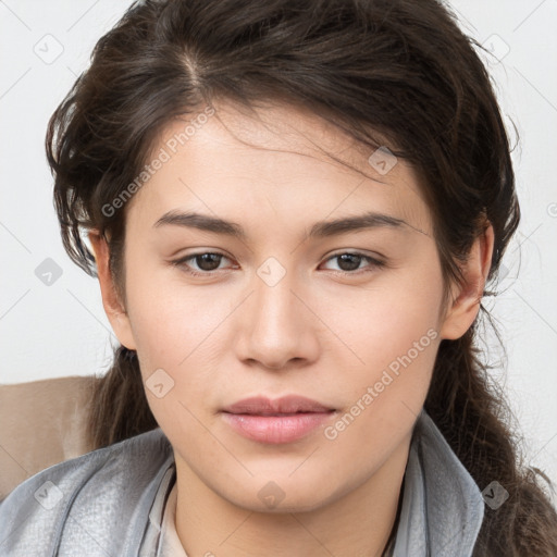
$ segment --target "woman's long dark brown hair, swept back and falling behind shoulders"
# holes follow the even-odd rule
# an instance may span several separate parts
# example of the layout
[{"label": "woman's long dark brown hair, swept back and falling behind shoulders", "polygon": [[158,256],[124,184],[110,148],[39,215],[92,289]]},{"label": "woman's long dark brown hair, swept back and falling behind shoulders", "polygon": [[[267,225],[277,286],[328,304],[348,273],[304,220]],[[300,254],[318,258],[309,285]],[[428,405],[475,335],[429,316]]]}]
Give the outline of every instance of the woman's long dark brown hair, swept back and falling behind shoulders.
[{"label": "woman's long dark brown hair, swept back and falling behind shoulders", "polygon": [[[104,237],[125,300],[126,208],[106,208],[129,193],[164,127],[218,98],[248,109],[274,101],[307,107],[417,169],[445,288],[461,282],[459,263],[491,223],[486,284],[496,283],[520,209],[507,132],[476,49],[437,0],[136,2],[97,42],[48,125],[64,247],[97,276],[82,235]],[[515,448],[509,405],[480,357],[481,318],[493,326],[480,304],[463,336],[441,342],[424,408],[479,487],[497,480],[509,493],[497,510],[485,508],[473,555],[553,557],[557,513],[537,479],[545,475],[523,467]],[[158,426],[137,354],[123,346],[92,403],[95,447]]]}]

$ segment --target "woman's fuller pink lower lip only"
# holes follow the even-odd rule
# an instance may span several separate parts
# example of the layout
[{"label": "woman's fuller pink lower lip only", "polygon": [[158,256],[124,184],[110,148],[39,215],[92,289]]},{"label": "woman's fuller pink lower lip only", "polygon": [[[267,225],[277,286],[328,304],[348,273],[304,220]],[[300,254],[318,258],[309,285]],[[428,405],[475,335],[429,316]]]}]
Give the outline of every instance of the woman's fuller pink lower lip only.
[{"label": "woman's fuller pink lower lip only", "polygon": [[240,435],[260,443],[292,443],[308,435],[334,412],[260,416],[223,412],[224,420]]}]

